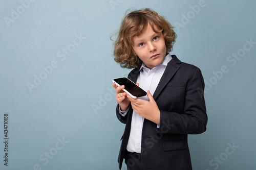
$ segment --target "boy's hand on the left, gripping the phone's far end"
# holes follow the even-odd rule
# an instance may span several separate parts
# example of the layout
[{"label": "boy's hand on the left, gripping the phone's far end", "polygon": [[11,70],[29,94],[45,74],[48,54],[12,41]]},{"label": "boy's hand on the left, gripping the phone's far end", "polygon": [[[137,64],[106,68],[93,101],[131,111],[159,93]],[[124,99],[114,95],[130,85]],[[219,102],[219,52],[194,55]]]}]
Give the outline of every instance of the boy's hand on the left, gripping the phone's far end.
[{"label": "boy's hand on the left, gripping the phone's far end", "polygon": [[124,85],[117,86],[115,83],[113,83],[112,85],[116,89],[116,101],[120,105],[121,111],[127,110],[131,102],[126,96],[127,93],[122,90],[124,89]]}]

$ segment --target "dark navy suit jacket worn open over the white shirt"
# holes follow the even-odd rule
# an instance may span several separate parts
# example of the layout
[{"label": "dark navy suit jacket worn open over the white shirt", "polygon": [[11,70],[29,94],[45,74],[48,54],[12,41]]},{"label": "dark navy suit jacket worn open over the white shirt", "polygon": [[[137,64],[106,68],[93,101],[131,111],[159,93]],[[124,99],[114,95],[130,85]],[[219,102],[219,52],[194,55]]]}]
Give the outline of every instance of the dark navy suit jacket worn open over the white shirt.
[{"label": "dark navy suit jacket worn open over the white shirt", "polygon": [[[206,130],[207,115],[203,97],[204,80],[198,67],[181,62],[175,55],[167,64],[153,95],[160,110],[160,127],[144,119],[141,141],[143,169],[192,169],[187,144],[187,134],[200,134]],[[140,66],[133,69],[128,78],[137,81]],[[200,89],[200,90],[198,90]],[[131,130],[133,109],[125,117],[126,124],[118,156],[119,168],[126,151]]]}]

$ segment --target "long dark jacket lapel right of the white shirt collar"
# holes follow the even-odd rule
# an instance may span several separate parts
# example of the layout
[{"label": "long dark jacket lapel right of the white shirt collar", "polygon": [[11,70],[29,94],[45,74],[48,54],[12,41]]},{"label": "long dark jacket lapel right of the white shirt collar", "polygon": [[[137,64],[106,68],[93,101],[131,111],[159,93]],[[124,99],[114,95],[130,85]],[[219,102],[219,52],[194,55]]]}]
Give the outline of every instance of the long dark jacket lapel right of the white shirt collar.
[{"label": "long dark jacket lapel right of the white shirt collar", "polygon": [[170,60],[165,68],[162,78],[154,92],[153,98],[156,100],[162,89],[169,82],[170,79],[175,75],[176,71],[180,68],[181,61],[175,56],[172,55],[173,59]]}]

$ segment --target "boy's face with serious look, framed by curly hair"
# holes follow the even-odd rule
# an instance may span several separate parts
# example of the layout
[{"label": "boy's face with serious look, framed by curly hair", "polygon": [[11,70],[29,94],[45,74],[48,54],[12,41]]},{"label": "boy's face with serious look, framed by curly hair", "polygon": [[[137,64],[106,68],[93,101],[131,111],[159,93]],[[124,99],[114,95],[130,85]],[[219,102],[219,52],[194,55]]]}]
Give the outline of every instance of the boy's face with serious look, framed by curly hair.
[{"label": "boy's face with serious look, framed by curly hair", "polygon": [[[157,27],[154,26],[156,30]],[[146,30],[139,36],[133,37],[133,50],[147,68],[161,64],[166,56],[166,46],[162,33],[156,33],[147,25]]]}]

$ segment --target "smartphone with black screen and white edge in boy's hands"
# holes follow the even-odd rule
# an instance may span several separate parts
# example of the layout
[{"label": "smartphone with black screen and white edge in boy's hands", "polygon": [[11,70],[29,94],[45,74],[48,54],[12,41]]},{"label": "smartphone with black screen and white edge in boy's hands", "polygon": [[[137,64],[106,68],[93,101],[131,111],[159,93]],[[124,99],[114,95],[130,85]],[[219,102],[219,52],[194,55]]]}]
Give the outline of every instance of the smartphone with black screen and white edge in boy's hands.
[{"label": "smartphone with black screen and white edge in boy's hands", "polygon": [[126,77],[116,78],[112,80],[118,86],[124,85],[123,91],[129,94],[133,99],[139,98],[141,96],[147,95],[142,88],[137,86],[134,82]]}]

